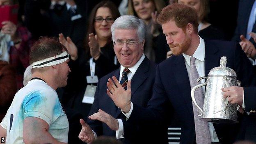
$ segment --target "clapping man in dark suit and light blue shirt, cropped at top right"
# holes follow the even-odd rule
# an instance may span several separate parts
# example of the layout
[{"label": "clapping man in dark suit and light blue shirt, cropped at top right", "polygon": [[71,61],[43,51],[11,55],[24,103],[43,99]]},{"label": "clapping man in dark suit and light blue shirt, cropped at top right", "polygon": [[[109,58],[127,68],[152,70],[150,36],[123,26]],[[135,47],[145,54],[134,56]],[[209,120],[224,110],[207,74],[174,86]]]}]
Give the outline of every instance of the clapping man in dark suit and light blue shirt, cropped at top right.
[{"label": "clapping man in dark suit and light blue shirt, cropped at top right", "polygon": [[248,57],[255,59],[256,43],[249,35],[249,32],[256,32],[255,24],[255,0],[240,0],[238,7],[237,26],[233,41],[239,42]]}]

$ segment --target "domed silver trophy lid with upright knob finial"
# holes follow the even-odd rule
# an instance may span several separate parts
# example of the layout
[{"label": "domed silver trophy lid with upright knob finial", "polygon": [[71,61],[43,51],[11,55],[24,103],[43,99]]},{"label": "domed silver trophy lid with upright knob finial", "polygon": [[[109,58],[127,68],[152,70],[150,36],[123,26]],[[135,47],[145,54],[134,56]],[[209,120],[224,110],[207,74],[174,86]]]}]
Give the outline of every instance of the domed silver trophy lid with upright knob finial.
[{"label": "domed silver trophy lid with upright knob finial", "polygon": [[220,66],[211,69],[208,75],[225,75],[235,79],[237,78],[235,71],[226,67],[227,57],[221,57],[219,63]]}]

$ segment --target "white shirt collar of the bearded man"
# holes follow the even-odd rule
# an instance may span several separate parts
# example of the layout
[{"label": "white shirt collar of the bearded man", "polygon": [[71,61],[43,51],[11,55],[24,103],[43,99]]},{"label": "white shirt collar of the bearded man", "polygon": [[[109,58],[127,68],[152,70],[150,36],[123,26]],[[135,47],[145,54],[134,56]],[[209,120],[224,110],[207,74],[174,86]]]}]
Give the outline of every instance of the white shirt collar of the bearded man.
[{"label": "white shirt collar of the bearded man", "polygon": [[[201,62],[204,61],[204,52],[205,52],[205,44],[204,44],[204,40],[199,36],[200,38],[200,43],[196,49],[196,51],[193,54],[193,57],[200,60]],[[182,54],[183,57],[185,58],[185,62],[187,63],[187,65],[190,66],[190,55],[186,55],[186,54]]]}]

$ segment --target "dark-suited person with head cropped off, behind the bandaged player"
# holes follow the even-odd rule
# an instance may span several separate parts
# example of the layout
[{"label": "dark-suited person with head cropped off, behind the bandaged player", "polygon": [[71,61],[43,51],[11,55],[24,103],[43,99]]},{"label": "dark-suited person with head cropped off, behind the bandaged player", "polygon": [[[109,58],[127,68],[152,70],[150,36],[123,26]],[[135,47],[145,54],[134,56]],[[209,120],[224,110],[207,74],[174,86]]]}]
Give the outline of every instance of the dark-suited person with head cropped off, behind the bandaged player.
[{"label": "dark-suited person with head cropped off, behind the bandaged player", "polygon": [[26,0],[25,25],[34,39],[58,38],[63,33],[80,52],[86,33],[87,10],[87,0]]}]

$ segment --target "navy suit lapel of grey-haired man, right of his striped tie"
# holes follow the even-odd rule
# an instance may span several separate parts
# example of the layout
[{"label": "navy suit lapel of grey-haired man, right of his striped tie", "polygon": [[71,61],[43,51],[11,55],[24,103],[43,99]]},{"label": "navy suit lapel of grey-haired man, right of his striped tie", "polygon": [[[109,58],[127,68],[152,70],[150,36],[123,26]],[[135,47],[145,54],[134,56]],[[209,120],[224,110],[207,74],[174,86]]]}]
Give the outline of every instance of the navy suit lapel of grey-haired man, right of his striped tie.
[{"label": "navy suit lapel of grey-haired man, right of his striped tie", "polygon": [[[149,59],[145,57],[142,63],[139,65],[137,71],[133,75],[133,78],[131,80],[131,91],[132,91],[131,100],[133,98],[133,95],[139,88],[139,86],[143,84],[146,78],[148,78],[148,76],[145,73],[146,71],[149,71],[149,62],[150,62]],[[119,69],[119,72],[120,72],[120,69]],[[120,108],[118,108],[115,118],[117,118],[119,114],[121,114]]]}]

